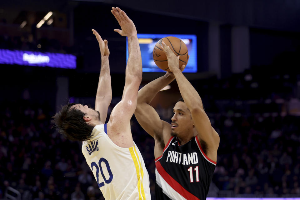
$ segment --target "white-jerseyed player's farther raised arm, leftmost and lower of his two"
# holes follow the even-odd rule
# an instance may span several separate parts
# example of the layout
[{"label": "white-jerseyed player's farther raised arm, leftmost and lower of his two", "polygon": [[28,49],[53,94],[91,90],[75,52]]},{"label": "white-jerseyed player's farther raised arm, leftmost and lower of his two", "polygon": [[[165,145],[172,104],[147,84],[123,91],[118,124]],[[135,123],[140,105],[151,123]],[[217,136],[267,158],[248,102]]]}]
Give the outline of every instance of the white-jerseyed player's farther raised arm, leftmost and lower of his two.
[{"label": "white-jerseyed player's farther raised arm, leftmost and lower of his two", "polygon": [[108,62],[108,41],[103,40],[96,30],[92,29],[92,31],[97,38],[101,53],[101,71],[96,94],[95,110],[100,113],[101,122],[105,123],[108,106],[112,101],[112,81]]}]

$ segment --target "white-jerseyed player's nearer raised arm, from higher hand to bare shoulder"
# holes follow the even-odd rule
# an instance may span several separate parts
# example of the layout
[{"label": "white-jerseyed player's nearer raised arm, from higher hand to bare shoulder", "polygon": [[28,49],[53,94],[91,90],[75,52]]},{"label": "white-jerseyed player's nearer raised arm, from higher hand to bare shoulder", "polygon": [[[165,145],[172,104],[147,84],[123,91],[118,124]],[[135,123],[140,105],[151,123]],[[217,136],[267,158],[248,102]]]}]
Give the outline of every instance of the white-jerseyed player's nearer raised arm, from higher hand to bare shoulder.
[{"label": "white-jerseyed player's nearer raised arm, from higher hand to bare shoulder", "polygon": [[[138,88],[142,81],[142,57],[137,30],[133,21],[118,7],[112,8],[111,12],[121,26],[121,30],[115,29],[114,31],[128,37],[129,57],[125,72],[125,86],[122,100],[113,108],[110,115],[107,125],[108,135],[111,134],[109,137],[117,145],[131,147],[133,140],[130,130],[130,119],[137,105]],[[122,140],[120,140],[120,137],[122,137]]]}]

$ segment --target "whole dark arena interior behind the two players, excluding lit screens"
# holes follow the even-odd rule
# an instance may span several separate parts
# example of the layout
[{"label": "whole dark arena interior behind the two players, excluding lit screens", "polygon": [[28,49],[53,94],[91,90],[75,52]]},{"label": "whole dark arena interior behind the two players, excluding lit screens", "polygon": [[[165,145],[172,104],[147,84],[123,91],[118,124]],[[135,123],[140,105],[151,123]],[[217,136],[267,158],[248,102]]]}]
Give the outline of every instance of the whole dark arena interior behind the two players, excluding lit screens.
[{"label": "whole dark arena interior behind the two players, excluding lit screens", "polygon": [[[0,2],[0,49],[73,54],[77,68],[0,64],[0,199],[103,199],[81,144],[50,120],[69,99],[94,106],[101,58],[92,28],[110,49],[108,114],[120,100],[126,38],[113,32],[112,6],[138,33],[197,36],[198,72],[185,75],[220,135],[208,197],[299,198],[299,1],[17,0]],[[162,75],[143,73],[141,87]],[[176,82],[170,85],[152,102],[166,121],[180,97]],[[134,117],[132,132],[154,199],[154,141]]]}]

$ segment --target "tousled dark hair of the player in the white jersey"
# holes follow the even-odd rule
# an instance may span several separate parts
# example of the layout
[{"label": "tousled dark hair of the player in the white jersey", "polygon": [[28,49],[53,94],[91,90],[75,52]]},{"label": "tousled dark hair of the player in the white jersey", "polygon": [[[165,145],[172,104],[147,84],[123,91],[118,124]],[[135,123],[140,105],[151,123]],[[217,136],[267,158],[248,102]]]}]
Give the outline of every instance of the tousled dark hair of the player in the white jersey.
[{"label": "tousled dark hair of the player in the white jersey", "polygon": [[87,124],[83,117],[86,113],[81,110],[71,108],[76,103],[68,103],[63,106],[61,111],[52,118],[54,127],[58,133],[73,141],[88,141],[92,138],[93,126]]}]

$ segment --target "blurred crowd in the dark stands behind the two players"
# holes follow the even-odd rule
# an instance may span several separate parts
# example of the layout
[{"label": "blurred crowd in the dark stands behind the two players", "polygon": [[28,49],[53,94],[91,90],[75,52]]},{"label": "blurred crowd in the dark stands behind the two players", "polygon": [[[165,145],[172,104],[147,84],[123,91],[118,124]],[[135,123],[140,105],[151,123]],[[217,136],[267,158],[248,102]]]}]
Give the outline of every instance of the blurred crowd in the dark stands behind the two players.
[{"label": "blurred crowd in the dark stands behind the two players", "polygon": [[[223,85],[229,87],[229,83],[225,81]],[[202,89],[214,87],[213,84],[205,86],[199,82],[201,86],[195,87],[201,95]],[[297,93],[288,98],[273,93],[271,98],[258,100],[225,96],[221,99],[215,95],[215,100],[210,95],[202,98],[212,127],[220,135],[208,196],[300,197]],[[19,193],[22,199],[104,199],[81,153],[81,143],[66,140],[52,128],[54,111],[49,110],[50,106],[28,100],[2,105],[0,199],[5,192],[11,192],[10,188],[17,190],[13,193]],[[113,103],[109,111],[112,108]],[[156,109],[169,122],[172,108],[158,105]],[[143,155],[154,196],[154,141],[134,118],[132,121],[133,139]]]}]

